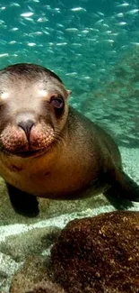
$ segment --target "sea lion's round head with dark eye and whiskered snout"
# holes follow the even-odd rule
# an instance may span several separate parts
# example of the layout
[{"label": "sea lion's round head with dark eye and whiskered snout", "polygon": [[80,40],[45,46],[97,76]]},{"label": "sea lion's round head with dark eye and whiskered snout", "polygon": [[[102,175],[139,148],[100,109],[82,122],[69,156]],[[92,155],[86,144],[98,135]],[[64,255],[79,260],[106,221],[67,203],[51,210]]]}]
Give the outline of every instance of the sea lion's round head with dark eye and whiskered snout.
[{"label": "sea lion's round head with dark eye and whiskered snout", "polygon": [[34,64],[0,71],[0,151],[40,155],[65,128],[70,92],[55,73]]}]

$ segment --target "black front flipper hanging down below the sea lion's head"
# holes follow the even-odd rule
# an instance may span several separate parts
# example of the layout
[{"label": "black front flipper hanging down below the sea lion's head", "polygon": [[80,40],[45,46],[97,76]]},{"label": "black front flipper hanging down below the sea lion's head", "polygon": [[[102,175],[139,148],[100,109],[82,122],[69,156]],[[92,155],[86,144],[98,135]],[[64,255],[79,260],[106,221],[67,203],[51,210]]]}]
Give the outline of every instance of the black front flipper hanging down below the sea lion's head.
[{"label": "black front flipper hanging down below the sea lion's head", "polygon": [[14,188],[9,183],[6,183],[6,186],[15,212],[26,216],[39,215],[39,202],[36,197]]}]

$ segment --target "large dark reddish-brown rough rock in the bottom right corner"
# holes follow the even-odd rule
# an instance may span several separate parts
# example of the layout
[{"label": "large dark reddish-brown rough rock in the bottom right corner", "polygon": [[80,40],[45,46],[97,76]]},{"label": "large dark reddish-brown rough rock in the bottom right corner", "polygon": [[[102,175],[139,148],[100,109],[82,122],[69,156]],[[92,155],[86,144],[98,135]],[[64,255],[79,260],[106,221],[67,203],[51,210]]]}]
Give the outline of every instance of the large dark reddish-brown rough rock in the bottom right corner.
[{"label": "large dark reddish-brown rough rock in the bottom right corner", "polygon": [[74,220],[51,250],[51,277],[68,293],[139,292],[139,213]]}]

